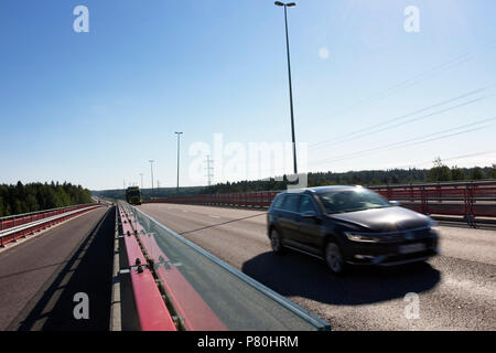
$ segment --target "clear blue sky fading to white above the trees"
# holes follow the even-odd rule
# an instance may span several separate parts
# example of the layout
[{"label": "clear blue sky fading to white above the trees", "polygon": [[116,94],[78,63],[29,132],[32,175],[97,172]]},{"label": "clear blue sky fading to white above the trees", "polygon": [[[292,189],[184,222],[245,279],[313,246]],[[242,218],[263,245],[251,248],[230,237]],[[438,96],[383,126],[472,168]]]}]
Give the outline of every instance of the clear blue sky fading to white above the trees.
[{"label": "clear blue sky fading to white above the trees", "polygon": [[[88,33],[73,30],[78,4]],[[418,33],[403,29],[408,6]],[[476,124],[496,118],[495,14],[487,0],[298,1],[294,111],[309,170],[495,163],[496,120]],[[155,181],[174,186],[179,130],[181,184],[193,185],[188,148],[216,132],[246,146],[291,139],[283,12],[270,0],[2,0],[0,45],[0,183],[114,189],[144,173],[149,188],[154,159]]]}]

